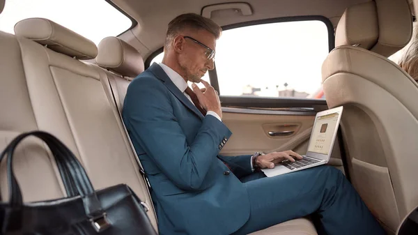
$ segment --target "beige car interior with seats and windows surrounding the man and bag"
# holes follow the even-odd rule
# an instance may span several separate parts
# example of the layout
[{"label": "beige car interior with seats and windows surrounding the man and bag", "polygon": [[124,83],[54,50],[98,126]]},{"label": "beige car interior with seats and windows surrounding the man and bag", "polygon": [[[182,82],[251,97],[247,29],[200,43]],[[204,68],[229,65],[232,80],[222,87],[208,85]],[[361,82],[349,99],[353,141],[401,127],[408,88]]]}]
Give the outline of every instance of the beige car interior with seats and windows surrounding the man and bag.
[{"label": "beige car interior with seats and windows surrounding the man and bag", "polygon": [[[233,132],[220,154],[304,154],[316,113],[343,106],[328,164],[346,175],[387,234],[418,206],[418,84],[397,64],[415,33],[412,0],[66,2],[73,8],[0,0],[1,150],[22,132],[55,135],[95,189],[129,185],[157,231],[121,119],[123,100],[132,79],[161,62],[167,24],[197,13],[223,29],[215,69],[203,77]],[[15,154],[24,202],[66,197],[45,144],[29,138]],[[8,199],[4,161],[0,192]],[[252,234],[317,232],[307,217]]]}]

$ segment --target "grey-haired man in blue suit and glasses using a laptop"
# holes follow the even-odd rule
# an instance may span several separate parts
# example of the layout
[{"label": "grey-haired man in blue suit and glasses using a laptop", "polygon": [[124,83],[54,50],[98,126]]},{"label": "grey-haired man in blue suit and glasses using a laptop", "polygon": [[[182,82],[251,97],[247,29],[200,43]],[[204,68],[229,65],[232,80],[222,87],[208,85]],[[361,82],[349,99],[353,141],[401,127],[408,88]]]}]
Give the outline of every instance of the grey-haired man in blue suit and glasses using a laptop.
[{"label": "grey-haired man in blue suit and glasses using a laptop", "polygon": [[214,68],[220,33],[200,15],[176,17],[162,63],[127,89],[123,120],[152,186],[160,234],[249,234],[307,215],[320,234],[384,234],[334,167],[268,178],[259,168],[301,156],[219,155],[232,133],[222,123],[215,89],[201,77]]}]

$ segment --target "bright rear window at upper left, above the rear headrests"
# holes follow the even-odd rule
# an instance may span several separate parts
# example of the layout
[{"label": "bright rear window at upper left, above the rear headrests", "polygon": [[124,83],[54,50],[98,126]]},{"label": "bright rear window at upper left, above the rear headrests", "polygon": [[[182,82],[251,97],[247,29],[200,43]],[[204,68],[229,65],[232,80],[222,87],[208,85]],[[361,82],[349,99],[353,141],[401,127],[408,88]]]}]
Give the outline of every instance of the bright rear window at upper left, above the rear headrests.
[{"label": "bright rear window at upper left, above the rear headrests", "polygon": [[132,26],[130,18],[104,0],[7,0],[0,15],[0,31],[14,33],[17,22],[31,17],[52,20],[96,45]]}]

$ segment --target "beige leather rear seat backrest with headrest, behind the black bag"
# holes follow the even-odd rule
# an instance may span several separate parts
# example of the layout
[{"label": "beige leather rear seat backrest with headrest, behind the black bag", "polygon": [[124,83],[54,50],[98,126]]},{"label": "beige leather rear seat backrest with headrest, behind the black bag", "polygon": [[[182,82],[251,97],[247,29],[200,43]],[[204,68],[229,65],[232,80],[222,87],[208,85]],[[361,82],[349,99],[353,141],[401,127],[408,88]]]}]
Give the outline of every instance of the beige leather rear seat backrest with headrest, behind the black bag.
[{"label": "beige leather rear seat backrest with headrest, behind the black bag", "polygon": [[[6,113],[0,118],[0,148],[20,132],[51,132],[79,158],[95,189],[129,185],[150,207],[148,216],[157,228],[146,183],[106,90],[107,77],[97,66],[77,60],[94,59],[97,47],[77,33],[40,18],[18,22],[15,34],[0,34],[2,52],[10,51],[7,57],[0,56],[0,68],[6,74],[0,79],[0,108]],[[40,152],[39,157],[33,158],[33,149]],[[14,167],[25,202],[65,195],[44,147],[25,147],[19,155]],[[35,179],[38,175],[42,178]],[[2,174],[3,197],[8,194],[5,181]]]}]

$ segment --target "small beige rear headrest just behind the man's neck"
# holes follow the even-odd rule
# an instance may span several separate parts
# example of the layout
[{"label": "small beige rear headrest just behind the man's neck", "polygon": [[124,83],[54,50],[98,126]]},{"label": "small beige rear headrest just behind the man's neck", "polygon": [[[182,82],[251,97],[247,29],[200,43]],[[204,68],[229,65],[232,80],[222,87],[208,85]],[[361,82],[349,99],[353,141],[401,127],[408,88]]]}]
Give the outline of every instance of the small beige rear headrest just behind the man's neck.
[{"label": "small beige rear headrest just behind the man's neck", "polygon": [[144,60],[134,47],[116,37],[104,38],[99,43],[96,63],[126,77],[137,77],[144,72]]}]

